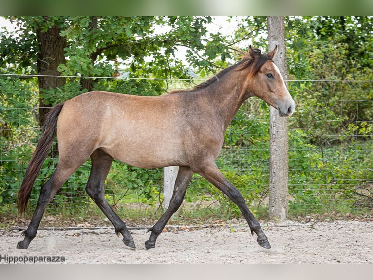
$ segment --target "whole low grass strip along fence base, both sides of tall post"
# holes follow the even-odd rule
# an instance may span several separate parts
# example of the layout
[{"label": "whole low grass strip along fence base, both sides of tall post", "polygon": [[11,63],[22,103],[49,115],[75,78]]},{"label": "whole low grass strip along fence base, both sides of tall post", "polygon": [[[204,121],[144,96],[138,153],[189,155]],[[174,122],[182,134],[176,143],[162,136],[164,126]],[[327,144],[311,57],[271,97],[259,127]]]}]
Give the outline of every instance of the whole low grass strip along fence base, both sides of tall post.
[{"label": "whole low grass strip along fence base, both sides of tall post", "polygon": [[[321,209],[298,206],[290,207],[288,219],[298,221],[332,221],[340,219],[373,220],[373,209],[352,209],[348,204],[340,201],[324,205]],[[260,222],[268,222],[268,207],[259,206],[250,209]],[[131,203],[126,207],[116,208],[115,212],[121,217],[126,225],[152,226],[164,213],[162,207],[147,204]],[[19,216],[15,208],[11,207],[0,216],[0,228],[26,228],[32,217],[33,209],[23,216]],[[201,206],[184,203],[180,209],[168,221],[168,225],[211,225],[229,223],[230,220],[240,220],[246,224],[242,215],[236,215],[235,211],[223,206]],[[87,203],[84,207],[47,209],[43,215],[40,227],[94,227],[108,226],[112,223],[106,218],[101,210],[94,204]]]}]

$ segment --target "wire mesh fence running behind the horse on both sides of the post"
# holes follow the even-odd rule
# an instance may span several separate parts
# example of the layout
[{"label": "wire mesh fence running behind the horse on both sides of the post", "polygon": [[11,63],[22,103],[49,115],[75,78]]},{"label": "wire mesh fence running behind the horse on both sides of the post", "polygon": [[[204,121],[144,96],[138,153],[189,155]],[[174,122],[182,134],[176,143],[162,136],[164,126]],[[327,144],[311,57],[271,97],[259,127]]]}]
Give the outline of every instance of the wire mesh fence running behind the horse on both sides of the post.
[{"label": "wire mesh fence running behind the horse on both sides of the post", "polygon": [[[289,81],[292,82],[298,81]],[[296,102],[297,111],[289,118],[290,211],[294,215],[304,215],[351,211],[352,208],[372,210],[373,101],[311,98],[297,99]],[[1,106],[0,115],[25,114],[33,118],[37,116],[37,110]],[[227,130],[218,159],[224,175],[254,206],[265,205],[268,197],[267,111],[260,100],[246,101]],[[40,129],[36,122],[26,124],[21,120],[15,127],[1,125],[0,209],[13,211]],[[46,160],[32,192],[31,205],[36,204],[40,186],[49,179],[56,162],[56,157]],[[89,172],[90,163],[86,162],[57,193],[49,209],[62,207],[70,211],[83,204],[92,204],[84,191]],[[116,207],[133,202],[161,204],[162,176],[162,169],[141,170],[115,161],[106,180],[106,198]],[[187,201],[217,197],[198,176],[193,178],[189,189],[192,191],[187,192]]]}]

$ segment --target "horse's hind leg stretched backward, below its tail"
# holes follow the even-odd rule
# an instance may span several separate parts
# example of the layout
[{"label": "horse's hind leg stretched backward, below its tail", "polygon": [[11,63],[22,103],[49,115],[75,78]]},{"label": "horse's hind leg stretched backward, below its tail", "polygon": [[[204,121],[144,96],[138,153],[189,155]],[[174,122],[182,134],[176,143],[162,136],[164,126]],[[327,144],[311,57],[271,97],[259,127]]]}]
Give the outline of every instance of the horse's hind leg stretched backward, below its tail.
[{"label": "horse's hind leg stretched backward, below its tail", "polygon": [[39,227],[41,218],[43,217],[45,208],[47,204],[53,199],[56,192],[61,188],[61,186],[69,179],[69,177],[76,171],[76,169],[83,164],[75,164],[74,167],[65,168],[64,164],[58,162],[55,172],[51,178],[41,187],[40,196],[37,200],[37,206],[35,212],[31,218],[27,230],[23,232],[24,239],[19,241],[17,244],[18,249],[27,249],[31,240],[37,234],[37,229]]}]

